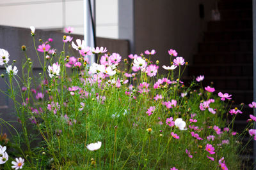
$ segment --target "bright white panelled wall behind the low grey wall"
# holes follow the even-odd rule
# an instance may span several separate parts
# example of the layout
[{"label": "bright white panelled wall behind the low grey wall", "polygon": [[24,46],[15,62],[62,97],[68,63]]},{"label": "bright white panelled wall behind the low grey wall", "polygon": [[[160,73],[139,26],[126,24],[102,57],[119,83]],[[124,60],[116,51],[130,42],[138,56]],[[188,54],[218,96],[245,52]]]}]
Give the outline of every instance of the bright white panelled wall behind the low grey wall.
[{"label": "bright white panelled wall behind the low grey wall", "polygon": [[[65,25],[83,34],[83,0],[1,0],[0,16],[0,25],[38,29]],[[96,32],[98,37],[118,38],[118,0],[96,0]]]}]

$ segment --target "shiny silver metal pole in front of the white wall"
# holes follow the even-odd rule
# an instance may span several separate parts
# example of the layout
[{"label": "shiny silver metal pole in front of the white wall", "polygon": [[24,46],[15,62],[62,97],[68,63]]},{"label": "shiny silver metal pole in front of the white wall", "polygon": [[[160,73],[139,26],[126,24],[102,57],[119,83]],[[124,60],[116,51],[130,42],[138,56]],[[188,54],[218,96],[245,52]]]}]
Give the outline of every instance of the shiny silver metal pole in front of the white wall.
[{"label": "shiny silver metal pole in front of the white wall", "polygon": [[[84,2],[84,41],[86,42],[86,46],[95,47],[94,46],[95,39],[93,36],[93,21],[95,25],[95,0],[84,0],[83,2]],[[92,10],[93,21],[91,18],[90,9]],[[96,29],[94,31],[96,31]],[[92,55],[90,59],[90,64],[92,64],[93,62],[95,62],[94,55]]]}]

